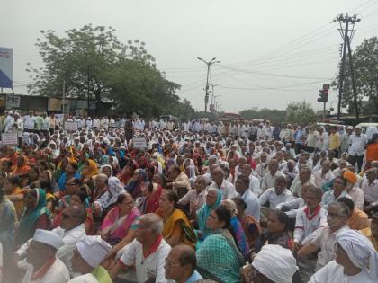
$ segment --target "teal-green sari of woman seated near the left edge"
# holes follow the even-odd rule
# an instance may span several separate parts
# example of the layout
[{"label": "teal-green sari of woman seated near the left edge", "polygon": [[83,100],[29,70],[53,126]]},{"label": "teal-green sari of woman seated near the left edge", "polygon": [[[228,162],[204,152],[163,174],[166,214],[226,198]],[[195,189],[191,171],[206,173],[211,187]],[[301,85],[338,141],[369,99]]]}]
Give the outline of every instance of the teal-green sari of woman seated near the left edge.
[{"label": "teal-green sari of woman seated near the left edge", "polygon": [[46,208],[46,192],[42,189],[33,189],[37,190],[37,205],[26,214],[26,210],[23,212],[23,217],[18,227],[15,243],[16,246],[22,245],[29,239],[31,239],[35,233],[35,225],[41,215],[46,214],[50,217],[51,213],[49,209]]}]

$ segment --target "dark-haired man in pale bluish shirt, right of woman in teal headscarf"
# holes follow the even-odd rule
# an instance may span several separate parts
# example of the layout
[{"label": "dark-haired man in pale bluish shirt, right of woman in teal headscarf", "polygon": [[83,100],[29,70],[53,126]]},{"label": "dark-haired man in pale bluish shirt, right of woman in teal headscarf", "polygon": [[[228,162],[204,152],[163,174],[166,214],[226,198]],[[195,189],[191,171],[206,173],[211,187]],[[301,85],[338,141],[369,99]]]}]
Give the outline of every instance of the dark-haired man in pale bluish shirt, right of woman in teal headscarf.
[{"label": "dark-haired man in pale bluish shirt, right of woman in teal headscarf", "polygon": [[252,216],[258,220],[260,219],[260,203],[252,190],[249,190],[249,181],[247,176],[240,175],[235,183],[235,188],[247,204],[247,209],[245,210],[246,216]]}]

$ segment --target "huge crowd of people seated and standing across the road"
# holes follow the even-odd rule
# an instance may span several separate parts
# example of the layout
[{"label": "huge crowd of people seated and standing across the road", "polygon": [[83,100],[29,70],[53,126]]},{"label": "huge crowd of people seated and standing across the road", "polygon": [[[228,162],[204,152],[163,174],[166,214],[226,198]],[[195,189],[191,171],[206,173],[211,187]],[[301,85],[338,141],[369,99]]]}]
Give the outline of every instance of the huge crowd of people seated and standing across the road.
[{"label": "huge crowd of people seated and standing across the road", "polygon": [[0,282],[378,282],[377,128],[67,121],[0,119]]}]

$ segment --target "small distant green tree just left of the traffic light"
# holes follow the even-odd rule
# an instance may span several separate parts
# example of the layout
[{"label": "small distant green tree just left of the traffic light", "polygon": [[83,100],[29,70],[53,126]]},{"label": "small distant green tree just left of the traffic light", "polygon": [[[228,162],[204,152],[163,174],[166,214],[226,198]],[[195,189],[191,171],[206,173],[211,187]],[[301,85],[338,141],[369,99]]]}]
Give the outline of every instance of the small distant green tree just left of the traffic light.
[{"label": "small distant green tree just left of the traffic light", "polygon": [[290,102],[286,108],[286,121],[290,123],[309,124],[316,120],[316,114],[311,108],[311,103]]}]

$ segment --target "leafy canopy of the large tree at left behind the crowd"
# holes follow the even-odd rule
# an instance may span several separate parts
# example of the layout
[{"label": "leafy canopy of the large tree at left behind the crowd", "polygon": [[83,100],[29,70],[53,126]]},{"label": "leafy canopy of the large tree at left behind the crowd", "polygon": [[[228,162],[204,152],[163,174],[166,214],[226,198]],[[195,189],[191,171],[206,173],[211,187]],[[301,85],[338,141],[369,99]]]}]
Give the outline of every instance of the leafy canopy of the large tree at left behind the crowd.
[{"label": "leafy canopy of the large tree at left behind the crowd", "polygon": [[[28,63],[32,79],[29,92],[61,97],[65,82],[67,97],[95,99],[98,114],[105,100],[114,102],[114,113],[136,112],[146,118],[182,107],[186,102],[175,95],[180,86],[157,70],[145,43],[129,40],[123,44],[114,31],[90,24],[65,31],[64,37],[58,37],[55,31],[40,31],[44,40],[38,39],[36,46],[44,67]],[[185,106],[183,110],[193,111],[190,103],[190,108]]]}]

